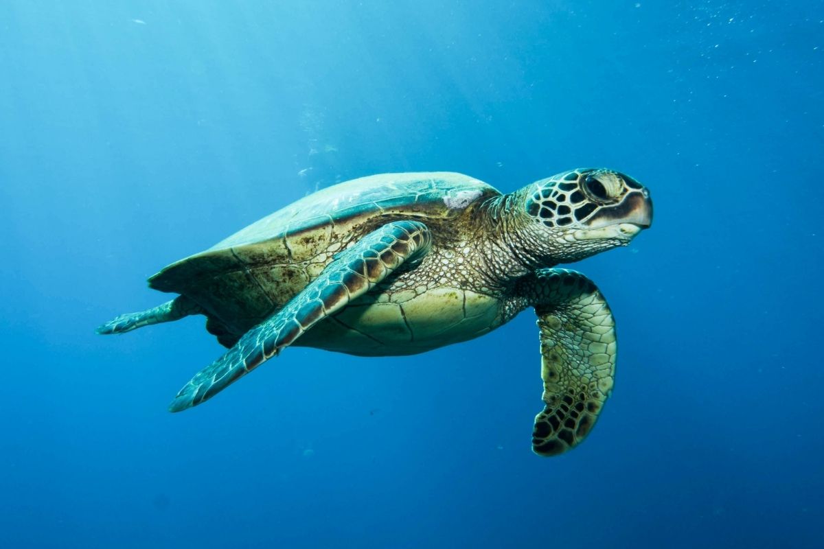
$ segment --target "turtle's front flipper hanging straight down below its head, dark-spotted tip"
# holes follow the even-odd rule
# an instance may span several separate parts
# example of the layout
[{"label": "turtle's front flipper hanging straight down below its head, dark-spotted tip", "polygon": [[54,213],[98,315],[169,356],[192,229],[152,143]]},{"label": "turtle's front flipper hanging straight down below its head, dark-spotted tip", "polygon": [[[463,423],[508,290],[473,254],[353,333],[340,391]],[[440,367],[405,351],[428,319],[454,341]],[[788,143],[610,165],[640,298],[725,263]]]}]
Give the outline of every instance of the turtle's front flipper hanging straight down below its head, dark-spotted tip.
[{"label": "turtle's front flipper hanging straight down below its head, dark-spotted tip", "polygon": [[610,396],[615,320],[601,292],[580,272],[542,269],[525,285],[541,328],[545,403],[535,418],[532,450],[562,454],[588,435]]}]

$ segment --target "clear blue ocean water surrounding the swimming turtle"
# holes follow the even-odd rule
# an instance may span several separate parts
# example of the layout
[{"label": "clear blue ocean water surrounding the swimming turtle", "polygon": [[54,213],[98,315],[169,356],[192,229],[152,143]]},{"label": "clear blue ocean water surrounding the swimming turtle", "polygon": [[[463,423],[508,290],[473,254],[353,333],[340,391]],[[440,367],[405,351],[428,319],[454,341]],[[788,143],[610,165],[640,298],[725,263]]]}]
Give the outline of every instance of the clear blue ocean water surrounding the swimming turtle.
[{"label": "clear blue ocean water surrounding the swimming turtle", "polygon": [[[0,547],[822,547],[822,56],[820,1],[0,3]],[[558,458],[530,311],[174,415],[202,319],[94,333],[337,181],[582,165],[656,218],[575,265],[620,358]]]}]

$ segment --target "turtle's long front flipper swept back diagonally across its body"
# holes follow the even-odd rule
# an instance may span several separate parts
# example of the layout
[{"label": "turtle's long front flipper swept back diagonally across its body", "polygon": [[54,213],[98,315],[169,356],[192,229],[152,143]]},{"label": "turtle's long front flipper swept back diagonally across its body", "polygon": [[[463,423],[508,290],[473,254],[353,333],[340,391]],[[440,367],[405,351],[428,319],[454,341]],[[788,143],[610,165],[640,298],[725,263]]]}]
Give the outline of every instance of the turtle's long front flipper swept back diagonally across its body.
[{"label": "turtle's long front flipper swept back diagonally across its body", "polygon": [[368,292],[400,265],[427,254],[431,245],[429,230],[419,221],[394,221],[364,236],[336,255],[283,309],[250,329],[225,355],[195,375],[169,409],[180,412],[212,398],[279,354],[316,323]]}]

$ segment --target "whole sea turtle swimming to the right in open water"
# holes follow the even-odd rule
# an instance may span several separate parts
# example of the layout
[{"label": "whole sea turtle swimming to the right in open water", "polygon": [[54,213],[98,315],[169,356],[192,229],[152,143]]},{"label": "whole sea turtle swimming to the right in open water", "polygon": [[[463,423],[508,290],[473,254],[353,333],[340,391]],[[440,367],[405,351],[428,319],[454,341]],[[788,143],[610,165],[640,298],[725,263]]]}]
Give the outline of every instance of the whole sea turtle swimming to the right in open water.
[{"label": "whole sea turtle swimming to the right in open water", "polygon": [[336,184],[164,268],[180,294],[98,333],[204,314],[230,347],[171,402],[213,397],[289,345],[359,356],[412,355],[538,315],[544,410],[536,454],[588,434],[611,393],[616,335],[606,300],[563,268],[626,245],[650,226],[646,188],[613,170],[578,169],[502,194],[451,172],[381,174]]}]

